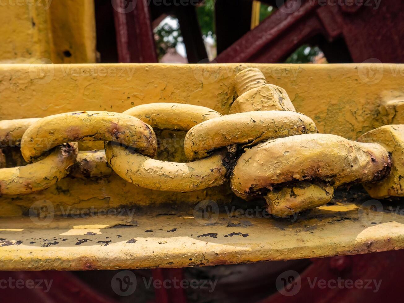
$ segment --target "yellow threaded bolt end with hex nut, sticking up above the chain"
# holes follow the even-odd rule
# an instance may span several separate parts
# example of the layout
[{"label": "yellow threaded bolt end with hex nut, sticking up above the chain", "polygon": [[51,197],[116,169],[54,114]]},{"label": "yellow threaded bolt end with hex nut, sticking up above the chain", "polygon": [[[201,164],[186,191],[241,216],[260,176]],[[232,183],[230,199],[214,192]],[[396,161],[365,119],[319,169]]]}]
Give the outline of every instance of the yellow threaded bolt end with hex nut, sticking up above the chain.
[{"label": "yellow threaded bolt end with hex nut, sticking up above the chain", "polygon": [[259,69],[244,69],[234,80],[238,98],[231,105],[231,114],[246,111],[296,111],[286,90],[268,84]]}]

